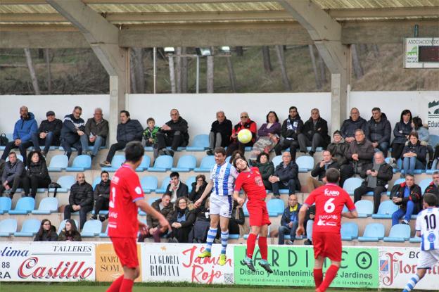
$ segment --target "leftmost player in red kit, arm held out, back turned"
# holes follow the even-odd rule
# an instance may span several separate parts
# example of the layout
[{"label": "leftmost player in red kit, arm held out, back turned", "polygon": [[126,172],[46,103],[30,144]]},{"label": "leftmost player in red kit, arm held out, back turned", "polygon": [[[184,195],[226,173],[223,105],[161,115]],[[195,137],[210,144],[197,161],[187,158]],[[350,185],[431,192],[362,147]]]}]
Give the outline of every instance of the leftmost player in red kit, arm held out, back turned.
[{"label": "leftmost player in red kit, arm held out, back turned", "polygon": [[125,163],[115,172],[111,180],[108,236],[113,241],[124,274],[113,281],[107,292],[132,291],[134,280],[139,277],[137,231],[146,234],[147,226],[137,220],[137,208],[157,218],[162,231],[169,229],[166,218],[144,200],[144,192],[135,172],[143,156],[144,146],[139,141],[129,142],[125,147]]}]

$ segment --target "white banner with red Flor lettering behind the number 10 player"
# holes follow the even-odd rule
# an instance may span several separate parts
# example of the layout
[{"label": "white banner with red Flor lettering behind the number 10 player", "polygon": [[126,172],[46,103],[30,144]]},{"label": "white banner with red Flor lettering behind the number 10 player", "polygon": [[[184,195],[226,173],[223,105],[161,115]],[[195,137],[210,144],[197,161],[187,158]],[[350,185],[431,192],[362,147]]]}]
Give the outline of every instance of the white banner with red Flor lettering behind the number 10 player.
[{"label": "white banner with red Flor lettering behind the number 10 player", "polygon": [[[416,274],[419,248],[378,248],[379,288],[404,288],[410,276]],[[439,291],[439,264],[427,273],[415,289]]]}]

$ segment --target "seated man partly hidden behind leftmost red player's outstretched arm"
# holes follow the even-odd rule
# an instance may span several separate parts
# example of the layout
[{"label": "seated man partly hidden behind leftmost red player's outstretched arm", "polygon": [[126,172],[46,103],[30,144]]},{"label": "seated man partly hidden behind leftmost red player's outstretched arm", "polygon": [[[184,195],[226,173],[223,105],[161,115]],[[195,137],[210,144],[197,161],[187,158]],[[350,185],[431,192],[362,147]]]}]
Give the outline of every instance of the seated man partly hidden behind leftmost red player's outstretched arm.
[{"label": "seated man partly hidden behind leftmost red player's outstretched arm", "polygon": [[[168,222],[170,221],[174,207],[171,203],[171,197],[168,193],[163,193],[162,198],[155,200],[151,204],[151,207],[165,216]],[[160,231],[160,224],[158,220],[150,214],[146,214],[146,225],[148,225],[148,234],[141,234],[139,236],[139,242],[144,242],[147,237],[151,236],[153,236],[154,242],[160,242],[160,236],[167,233],[167,229],[164,232]]]}]

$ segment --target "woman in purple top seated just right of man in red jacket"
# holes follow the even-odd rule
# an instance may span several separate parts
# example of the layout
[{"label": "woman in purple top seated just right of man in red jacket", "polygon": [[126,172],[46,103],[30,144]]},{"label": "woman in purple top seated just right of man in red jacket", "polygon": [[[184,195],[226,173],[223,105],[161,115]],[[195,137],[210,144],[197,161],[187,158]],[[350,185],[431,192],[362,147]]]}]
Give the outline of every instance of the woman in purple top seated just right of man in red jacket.
[{"label": "woman in purple top seated just right of man in red jacket", "polygon": [[262,124],[257,130],[257,136],[259,138],[253,145],[250,154],[250,160],[253,162],[260,153],[270,153],[274,146],[279,142],[281,137],[281,124],[279,123],[279,118],[277,118],[276,112],[270,111],[267,114],[267,122]]}]

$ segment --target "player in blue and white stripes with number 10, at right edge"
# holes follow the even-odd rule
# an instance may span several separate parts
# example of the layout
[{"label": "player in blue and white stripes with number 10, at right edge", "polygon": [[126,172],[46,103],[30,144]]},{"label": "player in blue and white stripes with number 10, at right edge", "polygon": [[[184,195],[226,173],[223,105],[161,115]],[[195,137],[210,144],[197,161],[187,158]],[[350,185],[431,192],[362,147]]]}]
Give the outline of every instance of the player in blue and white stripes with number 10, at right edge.
[{"label": "player in blue and white stripes with number 10, at right edge", "polygon": [[418,272],[410,278],[402,292],[412,291],[416,283],[424,278],[427,269],[439,262],[439,208],[433,193],[424,194],[424,210],[416,218],[416,234],[421,237],[421,252],[418,258]]}]

